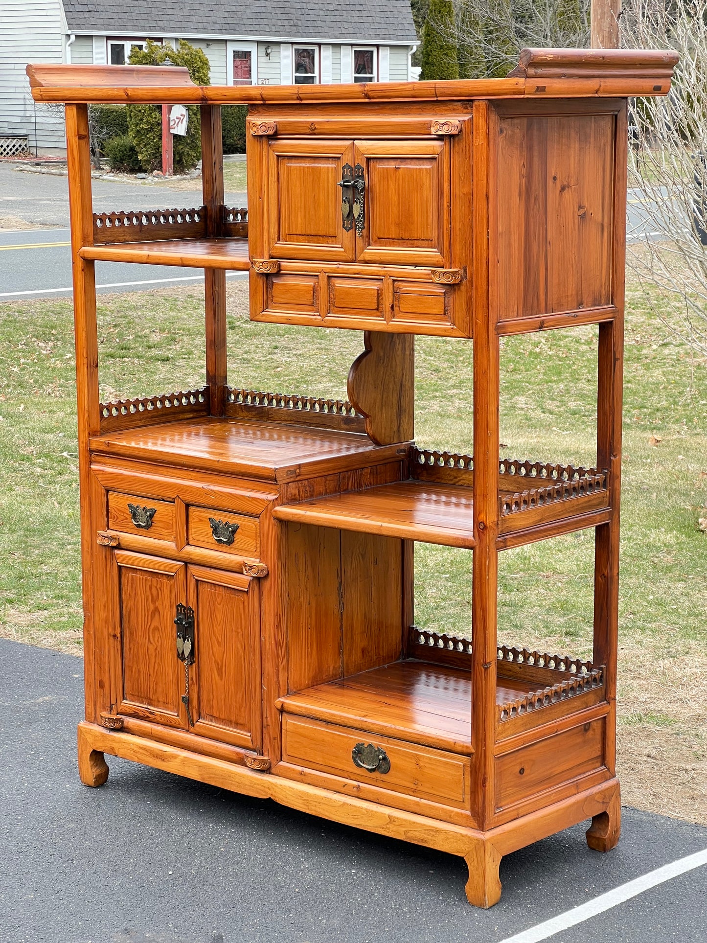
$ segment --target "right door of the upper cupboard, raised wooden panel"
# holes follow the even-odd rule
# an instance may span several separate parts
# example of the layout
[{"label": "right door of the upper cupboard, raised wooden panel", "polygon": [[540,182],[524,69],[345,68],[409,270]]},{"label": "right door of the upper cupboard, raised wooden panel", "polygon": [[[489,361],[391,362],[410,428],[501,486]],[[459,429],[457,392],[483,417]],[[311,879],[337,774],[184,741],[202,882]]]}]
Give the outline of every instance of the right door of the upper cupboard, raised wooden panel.
[{"label": "right door of the upper cupboard, raised wooden panel", "polygon": [[447,264],[450,155],[447,141],[356,141],[364,167],[366,220],[359,261]]}]

